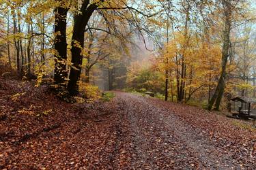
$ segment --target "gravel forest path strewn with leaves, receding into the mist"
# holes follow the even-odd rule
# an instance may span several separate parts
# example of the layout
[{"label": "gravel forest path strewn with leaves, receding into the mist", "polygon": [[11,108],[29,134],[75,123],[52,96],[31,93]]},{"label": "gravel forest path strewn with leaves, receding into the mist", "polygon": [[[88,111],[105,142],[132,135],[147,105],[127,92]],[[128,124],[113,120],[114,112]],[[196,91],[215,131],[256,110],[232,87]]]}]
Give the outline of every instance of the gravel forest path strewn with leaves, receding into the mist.
[{"label": "gravel forest path strewn with leaves, receding into the mist", "polygon": [[120,123],[124,125],[120,125],[116,167],[130,159],[132,169],[241,169],[238,161],[217,148],[216,141],[204,135],[202,129],[175,116],[163,105],[165,101],[124,92],[115,94],[123,116]]}]

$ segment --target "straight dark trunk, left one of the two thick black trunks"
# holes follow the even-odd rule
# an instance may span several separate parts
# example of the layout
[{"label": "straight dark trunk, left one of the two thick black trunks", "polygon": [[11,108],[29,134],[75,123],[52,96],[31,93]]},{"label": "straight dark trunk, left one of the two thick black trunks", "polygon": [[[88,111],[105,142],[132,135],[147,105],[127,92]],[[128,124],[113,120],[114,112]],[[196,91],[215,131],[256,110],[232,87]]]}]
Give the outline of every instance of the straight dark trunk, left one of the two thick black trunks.
[{"label": "straight dark trunk, left one of the two thick black trunks", "polygon": [[55,8],[55,74],[54,82],[57,86],[66,86],[66,78],[68,73],[66,71],[67,62],[67,26],[68,9],[65,7]]}]

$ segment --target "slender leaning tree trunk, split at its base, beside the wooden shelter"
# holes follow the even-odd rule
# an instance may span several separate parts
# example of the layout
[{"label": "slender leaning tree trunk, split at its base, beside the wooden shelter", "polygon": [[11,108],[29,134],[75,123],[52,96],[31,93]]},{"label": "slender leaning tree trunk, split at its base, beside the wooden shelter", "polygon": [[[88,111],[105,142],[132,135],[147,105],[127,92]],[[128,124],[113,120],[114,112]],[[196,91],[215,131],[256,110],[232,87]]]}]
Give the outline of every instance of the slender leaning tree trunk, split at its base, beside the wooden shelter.
[{"label": "slender leaning tree trunk, split at its base, beside the wooden shelter", "polygon": [[231,31],[231,10],[230,10],[230,2],[224,1],[225,5],[225,29],[223,33],[223,52],[222,52],[222,64],[221,64],[221,76],[218,80],[218,85],[210,100],[208,105],[208,109],[211,110],[212,106],[216,102],[216,109],[219,109],[221,104],[221,99],[223,97],[223,92],[225,88],[225,76],[226,76],[226,68],[227,68],[227,59],[229,56],[229,36]]}]

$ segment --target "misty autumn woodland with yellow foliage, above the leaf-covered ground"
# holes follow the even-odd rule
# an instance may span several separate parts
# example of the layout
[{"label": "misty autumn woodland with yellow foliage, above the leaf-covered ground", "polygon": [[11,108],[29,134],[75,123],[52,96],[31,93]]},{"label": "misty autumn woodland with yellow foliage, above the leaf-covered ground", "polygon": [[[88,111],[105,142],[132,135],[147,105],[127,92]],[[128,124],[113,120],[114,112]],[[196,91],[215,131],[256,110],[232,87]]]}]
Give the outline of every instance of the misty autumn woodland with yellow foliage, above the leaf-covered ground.
[{"label": "misty autumn woodland with yellow foliage, above the leaf-covered ground", "polygon": [[246,0],[1,1],[1,62],[20,78],[152,90],[165,100],[255,98],[255,12]]}]

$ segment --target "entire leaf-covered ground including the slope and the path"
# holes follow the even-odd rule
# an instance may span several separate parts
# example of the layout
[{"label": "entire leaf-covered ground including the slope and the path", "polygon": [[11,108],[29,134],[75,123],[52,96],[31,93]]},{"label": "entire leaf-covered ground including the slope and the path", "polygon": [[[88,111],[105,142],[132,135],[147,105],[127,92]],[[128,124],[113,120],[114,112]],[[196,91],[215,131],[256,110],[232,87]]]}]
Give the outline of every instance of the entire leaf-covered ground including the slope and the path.
[{"label": "entire leaf-covered ground including the slope and the path", "polygon": [[256,133],[197,107],[115,92],[70,104],[0,78],[0,169],[255,169]]}]

